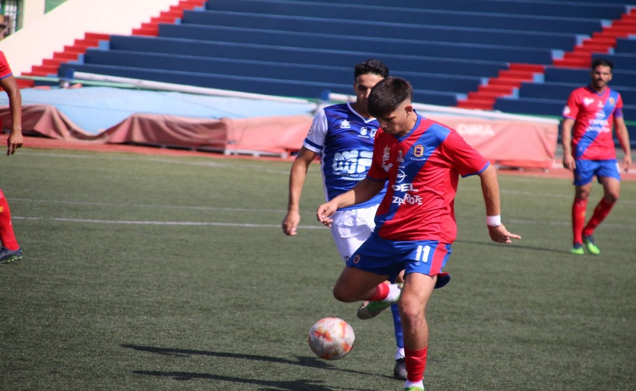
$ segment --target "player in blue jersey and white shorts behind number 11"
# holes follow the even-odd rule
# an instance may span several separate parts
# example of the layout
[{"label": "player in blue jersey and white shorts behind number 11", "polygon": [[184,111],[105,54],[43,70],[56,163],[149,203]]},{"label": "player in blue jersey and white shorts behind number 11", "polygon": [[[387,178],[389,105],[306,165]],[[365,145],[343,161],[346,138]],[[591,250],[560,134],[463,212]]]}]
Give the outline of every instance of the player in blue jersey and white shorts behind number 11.
[{"label": "player in blue jersey and white shorts behind number 11", "polygon": [[[307,138],[296,156],[289,174],[287,215],[282,222],[286,235],[296,235],[300,223],[300,194],[307,169],[316,156],[321,158],[326,200],[331,200],[362,181],[371,166],[373,139],[380,125],[368,113],[366,101],[380,80],[389,76],[388,67],[380,60],[366,60],[354,68],[356,102],[324,107],[316,114]],[[340,256],[347,261],[375,228],[374,217],[385,190],[370,200],[338,210],[333,217],[331,234]],[[404,342],[397,305],[391,306],[396,334],[394,376],[406,379]]]}]

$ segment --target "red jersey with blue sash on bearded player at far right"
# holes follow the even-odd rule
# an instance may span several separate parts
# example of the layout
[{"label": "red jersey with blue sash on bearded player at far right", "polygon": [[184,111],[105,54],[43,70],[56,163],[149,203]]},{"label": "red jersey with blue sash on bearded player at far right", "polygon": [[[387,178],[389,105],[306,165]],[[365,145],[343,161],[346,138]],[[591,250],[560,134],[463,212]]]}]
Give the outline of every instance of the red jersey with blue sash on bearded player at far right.
[{"label": "red jersey with blue sash on bearded player at far right", "polygon": [[614,117],[623,116],[621,94],[605,88],[597,93],[590,86],[570,93],[563,117],[574,120],[572,154],[586,160],[616,159],[612,126]]}]

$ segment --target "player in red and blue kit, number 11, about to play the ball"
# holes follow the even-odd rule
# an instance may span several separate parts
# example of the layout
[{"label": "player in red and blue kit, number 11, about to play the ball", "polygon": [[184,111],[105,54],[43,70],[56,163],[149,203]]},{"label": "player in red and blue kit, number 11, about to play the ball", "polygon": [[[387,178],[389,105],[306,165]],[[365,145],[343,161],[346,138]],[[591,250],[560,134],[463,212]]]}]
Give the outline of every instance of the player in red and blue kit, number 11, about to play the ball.
[{"label": "player in red and blue kit, number 11, about to play the ball", "polygon": [[[481,179],[490,238],[509,244],[511,238],[521,237],[501,224],[495,168],[455,130],[417,114],[412,99],[413,88],[401,78],[386,78],[373,87],[368,110],[381,129],[371,168],[363,181],[320,205],[316,213],[329,226],[333,221],[329,216],[338,208],[368,200],[388,182],[375,231],[347,261],[333,294],[347,303],[399,300],[406,353],[404,390],[424,391],[429,338],[425,308],[457,235],[454,202],[459,175]],[[380,284],[401,270],[401,292]]]}]

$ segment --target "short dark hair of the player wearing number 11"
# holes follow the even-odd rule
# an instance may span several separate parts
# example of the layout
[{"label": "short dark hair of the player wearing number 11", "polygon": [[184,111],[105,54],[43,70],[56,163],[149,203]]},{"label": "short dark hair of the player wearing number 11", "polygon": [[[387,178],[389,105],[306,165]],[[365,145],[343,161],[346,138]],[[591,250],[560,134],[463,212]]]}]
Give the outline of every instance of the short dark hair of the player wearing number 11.
[{"label": "short dark hair of the player wearing number 11", "polygon": [[411,83],[402,78],[386,78],[373,87],[366,106],[369,114],[382,118],[395,111],[407,99],[413,100]]}]

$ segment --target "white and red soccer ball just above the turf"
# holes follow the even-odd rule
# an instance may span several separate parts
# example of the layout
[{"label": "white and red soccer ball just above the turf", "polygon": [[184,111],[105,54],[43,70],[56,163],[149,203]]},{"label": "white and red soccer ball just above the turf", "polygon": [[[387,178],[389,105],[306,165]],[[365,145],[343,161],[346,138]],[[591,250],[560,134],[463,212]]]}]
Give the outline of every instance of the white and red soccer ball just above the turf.
[{"label": "white and red soccer ball just above the turf", "polygon": [[309,347],[325,360],[339,360],[351,352],[356,340],[353,327],[339,318],[324,318],[309,331]]}]

